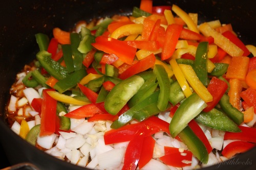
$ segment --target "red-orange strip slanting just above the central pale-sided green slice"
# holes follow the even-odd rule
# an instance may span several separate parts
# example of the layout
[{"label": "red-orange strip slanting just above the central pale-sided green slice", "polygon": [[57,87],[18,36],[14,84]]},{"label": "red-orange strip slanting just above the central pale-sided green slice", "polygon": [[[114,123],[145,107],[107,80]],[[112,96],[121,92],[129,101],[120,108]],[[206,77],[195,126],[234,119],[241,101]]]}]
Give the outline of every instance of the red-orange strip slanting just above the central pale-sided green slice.
[{"label": "red-orange strip slanting just above the central pale-sided green slice", "polygon": [[146,58],[140,60],[136,64],[132,65],[131,67],[127,68],[122,74],[119,75],[120,79],[127,79],[135,74],[138,74],[141,71],[145,71],[148,68],[151,68],[155,65],[156,57],[152,53],[151,55],[147,56]]}]

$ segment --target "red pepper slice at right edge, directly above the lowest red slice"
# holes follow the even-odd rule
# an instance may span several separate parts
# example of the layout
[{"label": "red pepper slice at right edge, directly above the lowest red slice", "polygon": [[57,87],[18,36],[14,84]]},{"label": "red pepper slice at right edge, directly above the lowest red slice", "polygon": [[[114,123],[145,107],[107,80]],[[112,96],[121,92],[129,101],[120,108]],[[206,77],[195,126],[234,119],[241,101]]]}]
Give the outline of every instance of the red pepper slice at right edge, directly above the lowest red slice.
[{"label": "red pepper slice at right edge, directly above the lowest red slice", "polygon": [[226,132],[224,135],[224,140],[238,139],[238,140],[256,143],[256,129],[255,128],[239,126],[239,129],[241,129],[242,132],[238,132],[238,133]]}]

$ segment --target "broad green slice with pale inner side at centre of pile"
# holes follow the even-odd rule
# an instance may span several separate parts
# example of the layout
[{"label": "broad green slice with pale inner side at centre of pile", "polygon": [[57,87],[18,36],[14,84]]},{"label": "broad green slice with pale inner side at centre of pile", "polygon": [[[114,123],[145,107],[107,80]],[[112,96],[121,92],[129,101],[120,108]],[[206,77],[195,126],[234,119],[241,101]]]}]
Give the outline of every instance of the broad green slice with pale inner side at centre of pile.
[{"label": "broad green slice with pale inner side at centre of pile", "polygon": [[115,85],[108,96],[106,96],[106,111],[108,111],[110,114],[116,115],[132,98],[132,96],[137,93],[143,83],[143,78],[134,75]]}]

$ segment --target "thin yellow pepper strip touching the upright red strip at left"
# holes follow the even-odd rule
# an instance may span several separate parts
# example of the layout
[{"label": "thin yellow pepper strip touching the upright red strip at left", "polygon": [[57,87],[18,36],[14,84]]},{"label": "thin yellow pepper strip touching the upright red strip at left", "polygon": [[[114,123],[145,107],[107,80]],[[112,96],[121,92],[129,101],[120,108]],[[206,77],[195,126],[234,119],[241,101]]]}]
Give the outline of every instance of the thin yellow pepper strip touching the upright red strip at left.
[{"label": "thin yellow pepper strip touching the upright red strip at left", "polygon": [[62,102],[62,103],[66,103],[66,104],[72,104],[72,105],[87,105],[89,103],[87,102],[82,102],[79,100],[76,100],[74,98],[72,98],[69,95],[66,94],[61,94],[57,91],[47,91],[47,93],[56,101]]}]

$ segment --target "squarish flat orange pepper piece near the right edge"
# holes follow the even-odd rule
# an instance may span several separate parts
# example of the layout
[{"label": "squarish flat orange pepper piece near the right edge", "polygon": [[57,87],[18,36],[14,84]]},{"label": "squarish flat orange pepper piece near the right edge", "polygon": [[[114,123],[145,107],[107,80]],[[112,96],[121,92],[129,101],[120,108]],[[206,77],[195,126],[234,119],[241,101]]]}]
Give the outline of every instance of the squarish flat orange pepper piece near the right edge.
[{"label": "squarish flat orange pepper piece near the right edge", "polygon": [[228,66],[226,78],[245,80],[249,68],[249,57],[232,57]]}]

